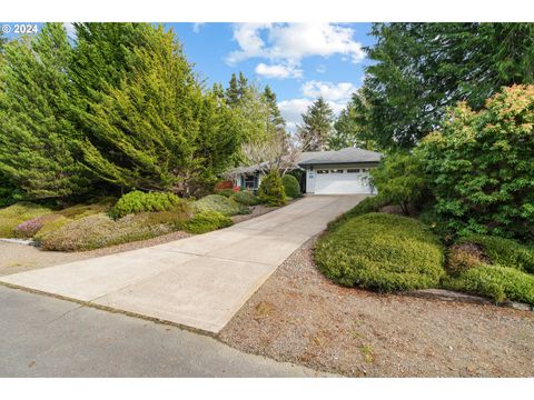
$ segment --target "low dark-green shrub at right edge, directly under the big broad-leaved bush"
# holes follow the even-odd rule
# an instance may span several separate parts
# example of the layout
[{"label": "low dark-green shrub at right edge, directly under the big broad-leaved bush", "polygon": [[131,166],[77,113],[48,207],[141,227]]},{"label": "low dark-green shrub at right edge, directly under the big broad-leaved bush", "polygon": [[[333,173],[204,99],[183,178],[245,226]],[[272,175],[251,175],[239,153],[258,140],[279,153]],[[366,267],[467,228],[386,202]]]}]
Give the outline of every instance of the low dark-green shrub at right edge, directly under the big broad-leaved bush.
[{"label": "low dark-green shrub at right edge, directly under the big broad-leaved bush", "polygon": [[458,243],[474,243],[479,246],[494,264],[534,273],[534,250],[514,240],[484,234],[472,234],[459,239]]}]

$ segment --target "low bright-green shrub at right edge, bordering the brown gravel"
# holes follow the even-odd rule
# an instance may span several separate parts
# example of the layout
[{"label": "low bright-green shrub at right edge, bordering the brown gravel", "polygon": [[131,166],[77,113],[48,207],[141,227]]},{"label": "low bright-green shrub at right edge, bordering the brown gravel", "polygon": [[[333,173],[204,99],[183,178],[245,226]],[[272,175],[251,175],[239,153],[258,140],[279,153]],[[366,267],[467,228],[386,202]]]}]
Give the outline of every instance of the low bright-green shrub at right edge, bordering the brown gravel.
[{"label": "low bright-green shrub at right edge, bordering the brown gravel", "polygon": [[501,266],[478,266],[462,272],[457,278],[445,279],[443,287],[492,298],[534,304],[534,276]]}]

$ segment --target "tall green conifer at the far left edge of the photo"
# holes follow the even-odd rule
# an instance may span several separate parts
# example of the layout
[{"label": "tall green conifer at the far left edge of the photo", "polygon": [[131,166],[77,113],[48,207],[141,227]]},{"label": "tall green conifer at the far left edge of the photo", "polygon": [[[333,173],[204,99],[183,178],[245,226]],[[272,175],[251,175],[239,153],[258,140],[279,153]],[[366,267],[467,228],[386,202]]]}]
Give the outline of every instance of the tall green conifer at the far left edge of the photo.
[{"label": "tall green conifer at the far left edge of the photo", "polygon": [[73,127],[72,49],[61,23],[10,41],[1,64],[0,172],[28,199],[66,199],[88,190]]}]

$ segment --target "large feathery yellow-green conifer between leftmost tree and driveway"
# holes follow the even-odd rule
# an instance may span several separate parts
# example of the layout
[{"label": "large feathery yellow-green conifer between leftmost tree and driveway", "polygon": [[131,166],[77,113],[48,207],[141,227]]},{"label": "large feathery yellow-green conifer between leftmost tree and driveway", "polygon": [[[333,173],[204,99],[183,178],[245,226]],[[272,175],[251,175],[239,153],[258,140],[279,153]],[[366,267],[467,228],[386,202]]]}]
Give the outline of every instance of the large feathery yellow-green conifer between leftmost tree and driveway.
[{"label": "large feathery yellow-green conifer between leftmost tree and driveway", "polygon": [[152,28],[130,71],[88,102],[85,164],[127,189],[191,196],[211,186],[240,146],[234,112],[204,93],[172,32]]}]

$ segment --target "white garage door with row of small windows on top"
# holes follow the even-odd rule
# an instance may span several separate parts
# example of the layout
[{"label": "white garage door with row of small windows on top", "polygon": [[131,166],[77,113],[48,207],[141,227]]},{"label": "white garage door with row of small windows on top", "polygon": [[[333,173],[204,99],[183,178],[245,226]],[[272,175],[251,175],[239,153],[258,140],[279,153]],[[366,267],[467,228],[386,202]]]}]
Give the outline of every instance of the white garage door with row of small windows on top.
[{"label": "white garage door with row of small windows on top", "polygon": [[316,194],[370,193],[367,183],[368,169],[317,169]]}]

